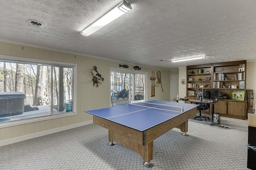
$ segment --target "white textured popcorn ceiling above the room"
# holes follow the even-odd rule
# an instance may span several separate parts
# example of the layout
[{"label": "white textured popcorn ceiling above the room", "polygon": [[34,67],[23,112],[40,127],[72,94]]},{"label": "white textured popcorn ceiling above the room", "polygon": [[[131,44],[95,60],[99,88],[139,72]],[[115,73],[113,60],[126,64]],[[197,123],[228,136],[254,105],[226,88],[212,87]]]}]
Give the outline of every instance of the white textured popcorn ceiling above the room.
[{"label": "white textured popcorn ceiling above the room", "polygon": [[[166,70],[256,59],[255,0],[127,1],[132,10],[85,37],[80,31],[122,1],[4,0],[0,39]],[[201,54],[206,59],[170,62]]]}]

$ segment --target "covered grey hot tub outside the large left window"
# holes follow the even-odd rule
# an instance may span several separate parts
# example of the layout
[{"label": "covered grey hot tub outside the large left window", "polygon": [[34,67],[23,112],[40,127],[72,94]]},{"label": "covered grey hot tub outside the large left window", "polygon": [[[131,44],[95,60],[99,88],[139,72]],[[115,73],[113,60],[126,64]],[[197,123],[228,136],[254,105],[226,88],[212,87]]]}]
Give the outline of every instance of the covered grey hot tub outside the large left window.
[{"label": "covered grey hot tub outside the large left window", "polygon": [[0,92],[0,117],[22,114],[25,98],[22,92]]}]

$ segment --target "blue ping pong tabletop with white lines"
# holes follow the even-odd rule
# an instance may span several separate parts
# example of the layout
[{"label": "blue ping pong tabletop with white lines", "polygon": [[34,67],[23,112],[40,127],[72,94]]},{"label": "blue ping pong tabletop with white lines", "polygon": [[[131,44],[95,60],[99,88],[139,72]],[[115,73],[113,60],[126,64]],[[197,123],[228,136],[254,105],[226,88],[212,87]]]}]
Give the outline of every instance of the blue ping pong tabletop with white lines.
[{"label": "blue ping pong tabletop with white lines", "polygon": [[[170,106],[174,106],[171,107],[172,111],[169,110]],[[150,100],[147,102],[94,109],[85,112],[138,131],[146,131],[151,127],[168,121],[197,106],[197,104]],[[183,107],[183,113],[181,112],[181,107]]]}]

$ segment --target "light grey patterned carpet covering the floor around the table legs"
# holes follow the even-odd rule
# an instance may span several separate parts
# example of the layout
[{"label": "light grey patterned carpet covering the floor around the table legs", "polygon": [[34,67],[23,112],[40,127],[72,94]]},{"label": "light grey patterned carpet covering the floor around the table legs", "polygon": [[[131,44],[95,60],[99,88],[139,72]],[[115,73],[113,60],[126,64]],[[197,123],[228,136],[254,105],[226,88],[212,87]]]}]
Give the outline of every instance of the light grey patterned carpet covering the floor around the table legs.
[{"label": "light grey patterned carpet covering the floor around the table legs", "polygon": [[108,146],[108,131],[90,124],[0,147],[0,169],[247,169],[248,121],[221,117],[221,124],[237,129],[190,119],[188,137],[176,128],[162,135],[154,141],[152,168],[144,167],[141,156],[130,149],[118,143]]}]

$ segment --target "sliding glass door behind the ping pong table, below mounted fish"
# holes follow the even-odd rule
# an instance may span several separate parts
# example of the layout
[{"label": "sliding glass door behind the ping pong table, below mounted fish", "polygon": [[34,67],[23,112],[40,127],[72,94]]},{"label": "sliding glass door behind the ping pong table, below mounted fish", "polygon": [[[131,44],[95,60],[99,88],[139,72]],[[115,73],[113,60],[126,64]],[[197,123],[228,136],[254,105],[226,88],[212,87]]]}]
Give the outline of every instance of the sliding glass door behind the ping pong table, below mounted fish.
[{"label": "sliding glass door behind the ping pong table, below mounted fish", "polygon": [[110,68],[110,106],[146,101],[147,72]]}]

